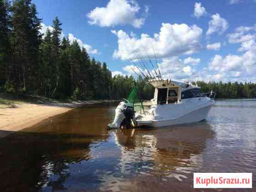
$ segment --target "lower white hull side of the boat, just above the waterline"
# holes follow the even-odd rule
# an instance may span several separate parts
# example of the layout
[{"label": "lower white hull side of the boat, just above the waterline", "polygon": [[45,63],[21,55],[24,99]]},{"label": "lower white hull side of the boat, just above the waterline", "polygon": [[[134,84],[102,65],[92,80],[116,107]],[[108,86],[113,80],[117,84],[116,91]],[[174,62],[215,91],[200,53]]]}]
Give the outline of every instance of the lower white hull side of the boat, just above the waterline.
[{"label": "lower white hull side of the boat, just above the waterline", "polygon": [[203,121],[207,118],[208,112],[210,111],[213,105],[208,105],[206,107],[199,108],[192,112],[185,114],[184,116],[178,117],[176,119],[170,120],[163,120],[163,121],[149,121],[144,124],[144,121],[138,121],[138,126],[147,126],[147,127],[164,127],[176,124],[183,124],[183,123],[195,123],[199,121]]}]

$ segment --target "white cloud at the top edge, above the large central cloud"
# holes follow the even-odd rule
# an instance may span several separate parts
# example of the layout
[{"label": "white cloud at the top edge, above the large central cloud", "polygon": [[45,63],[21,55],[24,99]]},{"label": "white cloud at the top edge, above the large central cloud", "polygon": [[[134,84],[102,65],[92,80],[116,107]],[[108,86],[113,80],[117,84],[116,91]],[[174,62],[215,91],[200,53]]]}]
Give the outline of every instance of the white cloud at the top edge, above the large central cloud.
[{"label": "white cloud at the top edge, above the large central cloud", "polygon": [[110,0],[106,7],[96,7],[87,14],[90,25],[114,27],[117,25],[132,25],[140,28],[146,19],[149,7],[145,6],[144,14],[138,17],[140,7],[135,0]]}]

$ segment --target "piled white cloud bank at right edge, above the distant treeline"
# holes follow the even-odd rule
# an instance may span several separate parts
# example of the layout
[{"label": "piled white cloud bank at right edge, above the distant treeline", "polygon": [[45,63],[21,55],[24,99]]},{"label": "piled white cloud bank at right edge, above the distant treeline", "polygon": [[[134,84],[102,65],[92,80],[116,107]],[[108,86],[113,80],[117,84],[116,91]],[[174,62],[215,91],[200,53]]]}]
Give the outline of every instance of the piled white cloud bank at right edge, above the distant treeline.
[{"label": "piled white cloud bank at right edge, above the distant treeline", "polygon": [[[238,49],[241,55],[215,55],[208,64],[208,73],[215,80],[246,81],[256,80],[256,41],[255,34],[248,34],[256,30],[252,27],[237,27],[234,33],[228,34],[229,43],[241,43]],[[214,74],[215,73],[215,74]]]}]

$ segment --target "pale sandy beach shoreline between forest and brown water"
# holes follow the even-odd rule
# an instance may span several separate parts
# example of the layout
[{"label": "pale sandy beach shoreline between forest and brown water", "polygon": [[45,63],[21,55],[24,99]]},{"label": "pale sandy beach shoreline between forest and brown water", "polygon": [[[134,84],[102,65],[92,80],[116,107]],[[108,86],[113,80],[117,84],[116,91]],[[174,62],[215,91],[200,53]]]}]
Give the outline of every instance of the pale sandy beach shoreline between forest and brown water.
[{"label": "pale sandy beach shoreline between forest and brown water", "polygon": [[15,107],[0,108],[0,138],[72,109],[86,105],[116,102],[112,100],[73,101],[71,103],[19,103]]}]

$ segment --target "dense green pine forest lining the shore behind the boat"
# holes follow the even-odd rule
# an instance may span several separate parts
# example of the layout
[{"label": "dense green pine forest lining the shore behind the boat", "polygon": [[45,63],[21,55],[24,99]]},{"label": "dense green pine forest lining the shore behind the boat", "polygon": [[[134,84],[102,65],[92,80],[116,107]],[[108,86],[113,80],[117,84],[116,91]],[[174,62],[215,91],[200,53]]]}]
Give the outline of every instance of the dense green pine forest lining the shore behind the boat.
[{"label": "dense green pine forest lining the shore behind the boat", "polygon": [[[32,0],[0,0],[0,91],[15,95],[74,99],[127,98],[136,85],[151,99],[154,88],[139,76],[112,77],[105,62],[91,58],[78,42],[60,39],[62,23],[41,34],[42,19]],[[194,82],[217,98],[255,97],[255,83]]]}]

